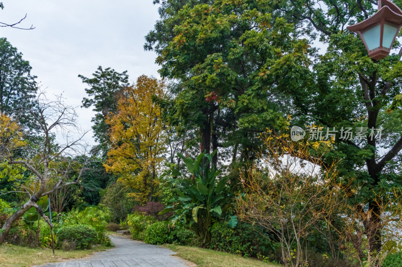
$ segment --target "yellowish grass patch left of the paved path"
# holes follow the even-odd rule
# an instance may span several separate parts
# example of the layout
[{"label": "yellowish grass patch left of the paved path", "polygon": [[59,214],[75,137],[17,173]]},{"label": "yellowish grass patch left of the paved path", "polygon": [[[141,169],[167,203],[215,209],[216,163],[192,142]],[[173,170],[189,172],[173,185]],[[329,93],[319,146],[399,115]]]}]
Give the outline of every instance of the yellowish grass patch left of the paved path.
[{"label": "yellowish grass patch left of the paved path", "polygon": [[69,258],[80,258],[96,251],[103,251],[110,247],[93,246],[85,250],[63,251],[56,249],[53,255],[51,248],[29,248],[25,246],[2,244],[0,245],[0,267],[29,267],[48,262],[63,261]]}]

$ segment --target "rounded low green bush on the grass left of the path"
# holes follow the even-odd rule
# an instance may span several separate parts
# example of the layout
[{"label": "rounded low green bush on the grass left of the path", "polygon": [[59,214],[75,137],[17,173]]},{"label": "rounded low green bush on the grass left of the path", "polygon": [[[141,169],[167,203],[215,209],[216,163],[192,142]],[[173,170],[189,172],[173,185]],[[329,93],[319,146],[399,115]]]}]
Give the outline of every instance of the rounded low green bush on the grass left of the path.
[{"label": "rounded low green bush on the grass left of the path", "polygon": [[56,229],[57,246],[61,247],[64,240],[74,242],[76,248],[90,248],[96,243],[97,233],[93,227],[83,224],[62,226]]}]

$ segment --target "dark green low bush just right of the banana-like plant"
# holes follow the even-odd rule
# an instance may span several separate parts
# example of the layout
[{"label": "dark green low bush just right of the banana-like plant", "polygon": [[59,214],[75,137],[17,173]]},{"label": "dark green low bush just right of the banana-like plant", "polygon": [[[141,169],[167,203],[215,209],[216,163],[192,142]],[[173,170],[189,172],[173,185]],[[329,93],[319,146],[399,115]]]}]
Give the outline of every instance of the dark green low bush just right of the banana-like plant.
[{"label": "dark green low bush just right of the banana-like plant", "polygon": [[210,248],[246,257],[266,256],[275,249],[273,242],[262,229],[239,222],[235,228],[221,224],[211,231]]}]

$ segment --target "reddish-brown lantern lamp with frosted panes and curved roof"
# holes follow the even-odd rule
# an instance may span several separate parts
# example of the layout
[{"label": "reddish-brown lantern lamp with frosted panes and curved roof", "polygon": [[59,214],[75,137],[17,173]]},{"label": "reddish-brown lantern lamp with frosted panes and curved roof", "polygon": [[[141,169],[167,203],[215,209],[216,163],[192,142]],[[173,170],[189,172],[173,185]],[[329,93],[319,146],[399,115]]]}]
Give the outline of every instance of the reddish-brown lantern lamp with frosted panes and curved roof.
[{"label": "reddish-brown lantern lamp with frosted panes and curved roof", "polygon": [[373,16],[346,29],[360,36],[370,58],[380,60],[389,55],[401,26],[402,11],[389,0],[378,0]]}]

